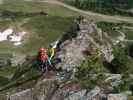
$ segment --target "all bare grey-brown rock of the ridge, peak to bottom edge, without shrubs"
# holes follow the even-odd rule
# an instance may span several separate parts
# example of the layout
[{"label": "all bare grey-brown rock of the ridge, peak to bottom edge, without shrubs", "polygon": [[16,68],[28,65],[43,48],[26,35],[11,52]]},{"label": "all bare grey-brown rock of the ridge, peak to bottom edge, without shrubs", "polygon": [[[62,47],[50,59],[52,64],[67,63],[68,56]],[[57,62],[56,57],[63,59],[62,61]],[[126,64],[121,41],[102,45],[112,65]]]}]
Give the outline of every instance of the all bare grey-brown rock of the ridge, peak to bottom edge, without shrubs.
[{"label": "all bare grey-brown rock of the ridge, peak to bottom edge, without shrubs", "polygon": [[[85,19],[78,23],[78,27],[76,37],[59,45],[61,50],[57,52],[57,56],[61,63],[57,68],[61,67],[63,71],[57,73],[55,78],[39,80],[32,89],[11,95],[10,100],[127,100],[126,95],[105,93],[104,88],[99,86],[91,90],[84,89],[79,82],[75,82],[74,77],[72,78],[76,67],[86,59],[84,51],[91,55],[98,50],[99,55],[108,62],[114,58],[113,42],[107,33]],[[105,83],[109,82],[111,89],[122,82],[120,74],[106,76]]]}]

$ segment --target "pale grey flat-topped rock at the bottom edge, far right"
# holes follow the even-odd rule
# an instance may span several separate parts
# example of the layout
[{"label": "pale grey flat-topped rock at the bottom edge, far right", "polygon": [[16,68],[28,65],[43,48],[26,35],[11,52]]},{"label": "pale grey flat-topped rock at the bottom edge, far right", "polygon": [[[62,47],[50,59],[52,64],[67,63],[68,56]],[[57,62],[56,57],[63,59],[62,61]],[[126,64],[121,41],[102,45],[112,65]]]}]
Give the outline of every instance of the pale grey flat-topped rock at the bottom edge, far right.
[{"label": "pale grey flat-topped rock at the bottom edge, far right", "polygon": [[124,94],[109,94],[108,100],[127,100],[127,96]]}]

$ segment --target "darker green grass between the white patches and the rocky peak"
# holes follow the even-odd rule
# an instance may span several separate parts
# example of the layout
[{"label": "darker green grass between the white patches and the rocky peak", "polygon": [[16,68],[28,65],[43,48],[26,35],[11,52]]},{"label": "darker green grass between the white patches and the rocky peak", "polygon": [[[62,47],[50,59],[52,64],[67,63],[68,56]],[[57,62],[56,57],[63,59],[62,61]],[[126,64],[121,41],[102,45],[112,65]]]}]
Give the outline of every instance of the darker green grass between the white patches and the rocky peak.
[{"label": "darker green grass between the white patches and the rocky peak", "polygon": [[[47,46],[57,40],[62,33],[66,32],[73,22],[73,18],[37,16],[31,19],[23,27],[30,30],[30,41],[23,46],[26,51],[34,52],[37,48]],[[32,24],[31,24],[32,23]],[[33,46],[34,44],[34,46]]]}]

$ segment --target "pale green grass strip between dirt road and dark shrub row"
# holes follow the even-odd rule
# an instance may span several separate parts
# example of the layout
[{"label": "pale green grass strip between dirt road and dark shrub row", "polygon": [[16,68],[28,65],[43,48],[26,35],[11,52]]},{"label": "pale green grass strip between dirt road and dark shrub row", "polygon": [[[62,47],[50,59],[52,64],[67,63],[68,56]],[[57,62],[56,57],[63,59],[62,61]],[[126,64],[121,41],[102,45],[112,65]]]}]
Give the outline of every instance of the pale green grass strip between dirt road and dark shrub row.
[{"label": "pale green grass strip between dirt road and dark shrub row", "polygon": [[24,2],[24,1],[6,1],[0,6],[0,10],[23,11],[23,12],[38,12],[45,11],[52,16],[69,17],[77,15],[62,6],[54,4],[39,3],[39,2]]}]

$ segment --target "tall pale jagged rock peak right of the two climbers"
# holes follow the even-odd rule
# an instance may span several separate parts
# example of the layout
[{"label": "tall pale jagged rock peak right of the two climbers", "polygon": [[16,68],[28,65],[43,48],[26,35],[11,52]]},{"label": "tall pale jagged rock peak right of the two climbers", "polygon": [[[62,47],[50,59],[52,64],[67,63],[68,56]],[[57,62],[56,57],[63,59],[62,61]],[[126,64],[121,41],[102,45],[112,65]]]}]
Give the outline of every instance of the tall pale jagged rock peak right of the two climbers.
[{"label": "tall pale jagged rock peak right of the two climbers", "polygon": [[96,24],[87,20],[83,20],[79,27],[77,37],[60,44],[62,49],[58,53],[58,57],[62,62],[57,67],[62,67],[64,70],[73,70],[85,60],[83,51],[89,49],[90,52],[93,52],[94,48],[100,50],[106,61],[111,62],[114,56],[110,37],[102,32]]}]

